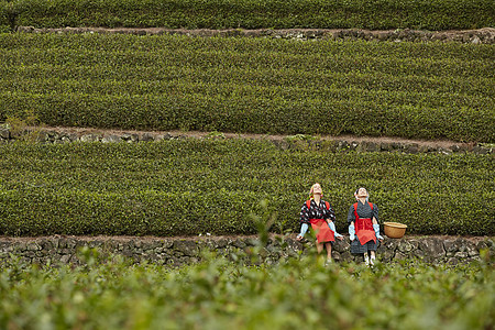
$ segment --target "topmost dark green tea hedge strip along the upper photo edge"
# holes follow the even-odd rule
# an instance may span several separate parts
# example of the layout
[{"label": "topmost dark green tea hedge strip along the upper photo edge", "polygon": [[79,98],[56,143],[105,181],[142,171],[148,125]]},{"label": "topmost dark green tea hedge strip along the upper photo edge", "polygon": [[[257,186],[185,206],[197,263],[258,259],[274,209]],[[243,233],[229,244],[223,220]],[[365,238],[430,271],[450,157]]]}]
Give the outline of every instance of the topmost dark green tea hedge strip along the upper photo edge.
[{"label": "topmost dark green tea hedge strip along the upper photo edge", "polygon": [[494,26],[491,0],[1,0],[0,26],[186,29]]}]

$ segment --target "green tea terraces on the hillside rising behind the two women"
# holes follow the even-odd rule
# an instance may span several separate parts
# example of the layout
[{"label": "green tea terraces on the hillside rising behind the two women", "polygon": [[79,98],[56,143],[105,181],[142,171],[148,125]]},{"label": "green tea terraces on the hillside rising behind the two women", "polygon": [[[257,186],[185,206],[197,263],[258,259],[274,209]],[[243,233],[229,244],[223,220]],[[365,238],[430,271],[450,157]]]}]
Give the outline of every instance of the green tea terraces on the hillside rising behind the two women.
[{"label": "green tea terraces on the hillside rising behind the two women", "polygon": [[[0,34],[0,122],[9,134],[1,141],[15,141],[0,144],[0,232],[253,233],[250,215],[264,199],[278,215],[272,230],[285,232],[297,229],[307,189],[320,182],[340,231],[352,193],[364,185],[382,221],[405,222],[410,233],[493,234],[493,43],[36,33],[65,25],[397,33],[494,25],[484,0],[348,2],[1,1],[2,31],[32,25],[34,33]],[[293,140],[290,147],[243,139],[51,145],[22,138],[24,125]],[[449,140],[488,152],[307,143],[344,134]]]}]

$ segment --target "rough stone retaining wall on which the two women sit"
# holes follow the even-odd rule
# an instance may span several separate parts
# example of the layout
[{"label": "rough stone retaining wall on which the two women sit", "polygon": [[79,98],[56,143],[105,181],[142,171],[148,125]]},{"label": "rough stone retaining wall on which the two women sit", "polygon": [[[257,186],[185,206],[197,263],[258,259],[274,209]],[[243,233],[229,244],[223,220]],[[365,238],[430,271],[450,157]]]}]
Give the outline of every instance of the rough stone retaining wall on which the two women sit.
[{"label": "rough stone retaining wall on which the two women sit", "polygon": [[[215,251],[218,255],[230,256],[241,252],[253,253],[260,241],[252,237],[240,238],[136,238],[136,237],[47,237],[47,238],[0,238],[0,263],[19,257],[26,263],[80,264],[79,250],[96,248],[101,255],[123,255],[139,263],[182,265],[198,262],[204,251]],[[480,251],[495,255],[494,238],[436,238],[414,237],[385,239],[378,248],[378,260],[392,262],[409,257],[424,258],[430,263],[469,263],[480,258]],[[300,243],[293,238],[273,235],[261,250],[264,263],[277,263],[280,258],[299,257],[315,252],[312,243]],[[362,256],[350,253],[349,239],[333,245],[333,257],[338,262],[361,262]]]}]

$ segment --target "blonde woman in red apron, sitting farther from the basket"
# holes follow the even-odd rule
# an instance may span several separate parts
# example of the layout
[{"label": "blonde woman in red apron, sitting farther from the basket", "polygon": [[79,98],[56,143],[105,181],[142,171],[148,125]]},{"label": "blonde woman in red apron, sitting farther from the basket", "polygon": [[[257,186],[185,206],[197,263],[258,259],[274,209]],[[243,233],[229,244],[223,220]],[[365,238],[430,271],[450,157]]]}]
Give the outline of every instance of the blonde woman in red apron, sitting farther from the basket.
[{"label": "blonde woman in red apron, sitting farther from the basket", "polygon": [[332,258],[332,244],[336,238],[342,240],[343,237],[336,231],[336,212],[328,201],[321,199],[323,190],[320,184],[312,185],[309,190],[309,200],[307,200],[300,209],[300,233],[297,240],[302,240],[309,226],[311,226],[317,237],[317,251],[320,254],[323,245],[327,248],[327,264]]}]

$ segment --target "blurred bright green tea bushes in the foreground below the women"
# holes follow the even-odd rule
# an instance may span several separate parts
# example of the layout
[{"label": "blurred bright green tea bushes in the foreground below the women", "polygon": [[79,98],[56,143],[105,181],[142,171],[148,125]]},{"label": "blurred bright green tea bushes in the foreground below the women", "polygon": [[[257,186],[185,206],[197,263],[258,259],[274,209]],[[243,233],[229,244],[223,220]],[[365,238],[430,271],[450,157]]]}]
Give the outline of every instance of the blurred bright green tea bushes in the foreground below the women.
[{"label": "blurred bright green tea bushes in the foreground below the women", "polygon": [[[240,254],[237,254],[240,255]],[[242,255],[240,255],[242,256]],[[246,266],[207,255],[180,268],[102,262],[0,265],[2,329],[492,329],[488,263]],[[255,260],[255,256],[254,256]],[[302,294],[304,293],[304,294]],[[381,301],[376,304],[376,301]],[[35,324],[35,326],[34,326]]]}]

